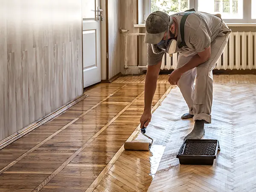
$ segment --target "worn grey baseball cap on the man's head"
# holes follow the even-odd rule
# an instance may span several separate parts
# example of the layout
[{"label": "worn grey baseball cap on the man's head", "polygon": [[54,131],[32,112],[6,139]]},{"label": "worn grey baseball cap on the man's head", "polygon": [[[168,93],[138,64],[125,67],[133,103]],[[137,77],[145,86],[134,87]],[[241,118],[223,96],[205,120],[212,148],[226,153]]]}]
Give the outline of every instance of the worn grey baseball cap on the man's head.
[{"label": "worn grey baseball cap on the man's head", "polygon": [[144,43],[158,44],[162,39],[165,32],[168,30],[168,24],[171,18],[168,14],[161,11],[152,12],[148,15],[146,20],[146,32]]}]

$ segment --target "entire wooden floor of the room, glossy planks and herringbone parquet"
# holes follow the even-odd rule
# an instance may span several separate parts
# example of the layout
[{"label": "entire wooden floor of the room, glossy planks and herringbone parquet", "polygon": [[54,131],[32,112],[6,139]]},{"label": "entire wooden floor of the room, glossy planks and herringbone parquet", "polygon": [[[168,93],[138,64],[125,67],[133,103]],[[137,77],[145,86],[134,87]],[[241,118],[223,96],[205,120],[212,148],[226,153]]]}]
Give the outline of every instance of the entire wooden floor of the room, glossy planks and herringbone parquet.
[{"label": "entire wooden floor of the room, glossy planks and herringbone parquet", "polygon": [[220,141],[213,166],[181,166],[176,154],[193,127],[182,120],[180,90],[160,75],[147,134],[150,152],[124,151],[144,140],[138,127],[145,76],[98,84],[70,110],[0,150],[0,192],[255,191],[256,76],[214,76],[212,123]]}]

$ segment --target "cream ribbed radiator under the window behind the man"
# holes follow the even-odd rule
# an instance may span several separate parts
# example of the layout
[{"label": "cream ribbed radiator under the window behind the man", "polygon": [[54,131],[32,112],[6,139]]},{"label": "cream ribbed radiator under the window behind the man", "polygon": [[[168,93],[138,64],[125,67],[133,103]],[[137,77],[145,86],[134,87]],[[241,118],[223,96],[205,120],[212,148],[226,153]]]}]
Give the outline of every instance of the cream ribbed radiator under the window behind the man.
[{"label": "cream ribbed radiator under the window behind the man", "polygon": [[[231,32],[228,44],[216,63],[215,70],[256,69],[256,32]],[[178,53],[163,57],[161,70],[177,68]]]}]

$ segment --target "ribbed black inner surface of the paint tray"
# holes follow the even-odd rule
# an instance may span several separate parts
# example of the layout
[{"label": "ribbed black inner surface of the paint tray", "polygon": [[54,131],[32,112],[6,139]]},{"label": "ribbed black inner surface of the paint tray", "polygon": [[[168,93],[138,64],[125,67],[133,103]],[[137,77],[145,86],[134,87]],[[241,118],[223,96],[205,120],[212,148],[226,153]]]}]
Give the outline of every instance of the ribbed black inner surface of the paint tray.
[{"label": "ribbed black inner surface of the paint tray", "polygon": [[[215,142],[186,142],[178,155],[215,155]],[[185,147],[185,149],[184,149]],[[183,152],[184,149],[184,152]]]}]

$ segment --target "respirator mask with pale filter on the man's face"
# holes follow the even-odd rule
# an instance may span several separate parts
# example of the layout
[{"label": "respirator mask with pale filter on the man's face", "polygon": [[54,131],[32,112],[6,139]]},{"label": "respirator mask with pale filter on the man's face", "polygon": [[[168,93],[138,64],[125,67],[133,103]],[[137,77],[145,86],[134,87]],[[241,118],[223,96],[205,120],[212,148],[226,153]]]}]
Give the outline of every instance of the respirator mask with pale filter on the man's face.
[{"label": "respirator mask with pale filter on the man's face", "polygon": [[171,38],[167,39],[169,34],[170,34],[170,25],[168,25],[166,40],[160,41],[157,44],[157,47],[171,55],[176,51],[177,41],[174,39],[175,38],[174,34],[170,34]]}]

